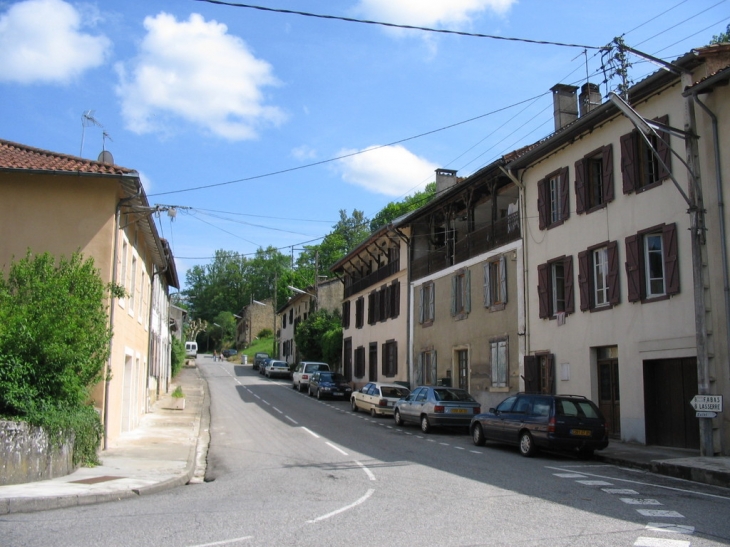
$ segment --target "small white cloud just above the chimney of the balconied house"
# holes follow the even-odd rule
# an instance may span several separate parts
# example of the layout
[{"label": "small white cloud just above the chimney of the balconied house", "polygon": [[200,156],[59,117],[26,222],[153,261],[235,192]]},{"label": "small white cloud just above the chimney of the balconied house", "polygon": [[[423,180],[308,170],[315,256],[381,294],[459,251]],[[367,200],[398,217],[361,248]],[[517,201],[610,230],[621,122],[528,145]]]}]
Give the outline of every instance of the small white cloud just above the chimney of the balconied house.
[{"label": "small white cloud just above the chimney of the balconied house", "polygon": [[[371,150],[376,148],[374,150]],[[378,194],[405,196],[434,180],[438,167],[416,156],[403,146],[369,147],[364,154],[340,160],[337,169],[342,179]],[[342,150],[337,155],[352,154],[357,150]]]}]

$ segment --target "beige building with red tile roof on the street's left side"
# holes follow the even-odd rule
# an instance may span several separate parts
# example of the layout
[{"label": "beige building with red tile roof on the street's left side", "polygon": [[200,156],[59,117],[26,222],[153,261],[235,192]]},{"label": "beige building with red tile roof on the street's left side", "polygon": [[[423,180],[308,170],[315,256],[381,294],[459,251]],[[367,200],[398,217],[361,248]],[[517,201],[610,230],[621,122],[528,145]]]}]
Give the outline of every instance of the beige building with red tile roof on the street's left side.
[{"label": "beige building with red tile roof on the street's left side", "polygon": [[[151,317],[153,279],[169,275],[166,253],[150,217],[139,174],[116,165],[0,140],[0,265],[27,249],[93,257],[105,283],[116,281],[128,296],[110,302],[114,337],[109,380],[96,386],[93,402],[104,421],[105,447],[134,429],[148,404],[150,324],[159,326],[157,349],[168,344],[167,314]],[[166,272],[166,273],[163,273]],[[159,308],[167,286],[160,287]],[[62,320],[59,316],[59,320]],[[164,371],[167,366],[153,361]],[[160,372],[162,374],[162,372]]]}]

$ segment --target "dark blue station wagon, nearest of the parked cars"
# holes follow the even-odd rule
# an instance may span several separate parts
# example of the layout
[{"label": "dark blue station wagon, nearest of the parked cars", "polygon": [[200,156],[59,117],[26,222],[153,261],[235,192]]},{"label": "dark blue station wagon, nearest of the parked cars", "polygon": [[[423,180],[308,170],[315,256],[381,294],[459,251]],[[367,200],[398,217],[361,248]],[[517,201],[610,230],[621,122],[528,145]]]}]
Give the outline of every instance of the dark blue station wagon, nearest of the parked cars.
[{"label": "dark blue station wagon, nearest of the parked cars", "polygon": [[470,426],[476,445],[499,441],[517,445],[523,456],[539,448],[568,450],[589,458],[608,446],[606,420],[590,399],[579,395],[507,397],[489,412],[474,416]]}]

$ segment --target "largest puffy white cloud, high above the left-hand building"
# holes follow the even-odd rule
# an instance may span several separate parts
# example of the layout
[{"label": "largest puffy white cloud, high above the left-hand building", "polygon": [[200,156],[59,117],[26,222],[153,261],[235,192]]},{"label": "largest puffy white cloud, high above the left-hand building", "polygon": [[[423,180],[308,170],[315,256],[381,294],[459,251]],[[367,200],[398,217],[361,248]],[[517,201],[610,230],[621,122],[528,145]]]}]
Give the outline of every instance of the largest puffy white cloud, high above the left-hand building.
[{"label": "largest puffy white cloud, high above the left-hand building", "polygon": [[117,93],[127,127],[169,132],[181,118],[230,140],[253,139],[285,115],[264,104],[262,88],[278,85],[271,65],[253,56],[228,28],[199,14],[178,22],[160,13],[144,21],[147,35],[131,67],[118,64]]}]

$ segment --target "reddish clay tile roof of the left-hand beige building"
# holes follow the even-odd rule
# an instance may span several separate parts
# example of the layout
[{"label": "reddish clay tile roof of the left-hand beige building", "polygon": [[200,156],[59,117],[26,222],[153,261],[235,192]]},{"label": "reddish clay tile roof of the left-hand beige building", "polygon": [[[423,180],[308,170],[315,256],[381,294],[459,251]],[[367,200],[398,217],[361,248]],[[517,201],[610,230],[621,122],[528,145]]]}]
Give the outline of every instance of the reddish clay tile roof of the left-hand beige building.
[{"label": "reddish clay tile roof of the left-hand beige building", "polygon": [[0,169],[30,171],[68,171],[70,173],[98,173],[100,175],[137,174],[134,169],[107,165],[75,156],[41,150],[24,144],[0,139]]}]

